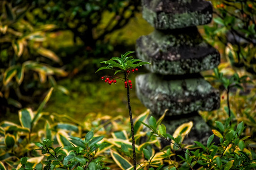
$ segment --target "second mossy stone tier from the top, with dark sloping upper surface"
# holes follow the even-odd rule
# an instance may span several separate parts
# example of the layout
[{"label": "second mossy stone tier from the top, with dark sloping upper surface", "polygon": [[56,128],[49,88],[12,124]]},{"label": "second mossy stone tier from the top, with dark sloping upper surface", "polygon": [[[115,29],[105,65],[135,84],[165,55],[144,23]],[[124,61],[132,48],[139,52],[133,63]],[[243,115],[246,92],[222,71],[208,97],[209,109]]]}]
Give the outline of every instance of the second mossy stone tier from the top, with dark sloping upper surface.
[{"label": "second mossy stone tier from the top, with dark sloping upper surface", "polygon": [[196,27],[159,31],[137,39],[137,57],[153,73],[183,75],[216,68],[220,54],[206,43]]}]

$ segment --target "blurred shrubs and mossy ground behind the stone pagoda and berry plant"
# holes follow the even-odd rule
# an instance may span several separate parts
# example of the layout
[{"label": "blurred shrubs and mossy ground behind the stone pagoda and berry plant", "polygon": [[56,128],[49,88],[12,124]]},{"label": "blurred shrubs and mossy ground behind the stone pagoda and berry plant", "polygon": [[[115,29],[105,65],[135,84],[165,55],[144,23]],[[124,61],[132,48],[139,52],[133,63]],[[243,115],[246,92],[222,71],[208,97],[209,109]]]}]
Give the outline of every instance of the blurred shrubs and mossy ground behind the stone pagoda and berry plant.
[{"label": "blurred shrubs and mossy ground behind the stone pagoda and berry plant", "polygon": [[[230,90],[232,111],[250,120],[249,117],[256,115],[256,96],[253,95],[256,3],[249,0],[212,2],[212,23],[198,29],[205,40],[221,52],[219,69],[225,76],[238,73],[253,80],[254,84],[243,85],[244,91]],[[37,108],[51,86],[55,88],[45,111],[82,119],[89,112],[126,115],[126,96],[120,93],[124,89],[119,82],[105,85],[100,79],[103,72],[94,73],[100,61],[134,51],[136,39],[153,30],[141,16],[140,0],[66,0],[65,3],[62,0],[2,0],[0,120],[15,121],[20,108]],[[209,74],[213,72],[203,72],[203,75]],[[207,80],[220,89],[222,95],[226,94],[223,85]],[[138,115],[145,107],[137,99],[135,90],[131,95],[132,109]],[[202,112],[209,124],[214,124],[213,119],[226,118],[225,97],[222,102],[220,110]],[[249,115],[245,109],[248,107]]]}]

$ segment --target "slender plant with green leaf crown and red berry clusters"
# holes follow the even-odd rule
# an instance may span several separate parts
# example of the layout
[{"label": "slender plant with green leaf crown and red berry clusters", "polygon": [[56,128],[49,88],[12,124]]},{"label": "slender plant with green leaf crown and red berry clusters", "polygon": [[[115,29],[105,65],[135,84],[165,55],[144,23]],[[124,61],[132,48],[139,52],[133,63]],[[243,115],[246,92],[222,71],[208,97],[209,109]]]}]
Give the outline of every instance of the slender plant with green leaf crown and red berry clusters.
[{"label": "slender plant with green leaf crown and red berry clusters", "polygon": [[[117,83],[116,79],[119,79],[124,82],[124,87],[127,89],[127,102],[131,123],[131,135],[132,135],[132,150],[133,150],[133,168],[136,170],[136,153],[135,153],[135,138],[134,138],[134,126],[132,119],[132,110],[130,105],[130,93],[129,89],[132,89],[132,81],[128,79],[130,72],[138,71],[137,67],[140,67],[144,64],[150,64],[149,62],[144,62],[140,59],[133,59],[132,56],[128,56],[134,51],[128,51],[125,54],[121,54],[121,57],[112,57],[110,60],[102,61],[101,63],[107,64],[107,66],[99,68],[96,73],[100,70],[111,69],[114,70],[115,73],[113,76],[102,76],[102,80],[105,83],[111,85],[112,83]],[[116,76],[116,74],[122,74],[123,77]]]}]

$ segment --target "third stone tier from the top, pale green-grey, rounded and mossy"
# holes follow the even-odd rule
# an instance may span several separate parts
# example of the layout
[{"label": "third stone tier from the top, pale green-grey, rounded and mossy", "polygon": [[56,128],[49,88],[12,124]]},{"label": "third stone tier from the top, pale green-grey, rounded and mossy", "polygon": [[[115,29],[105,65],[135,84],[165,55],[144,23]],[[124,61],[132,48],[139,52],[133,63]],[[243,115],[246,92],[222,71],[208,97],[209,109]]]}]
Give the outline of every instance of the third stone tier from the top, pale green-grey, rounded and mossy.
[{"label": "third stone tier from the top, pale green-grey, rounded and mossy", "polygon": [[167,116],[218,109],[219,91],[200,74],[193,76],[161,76],[153,73],[137,76],[137,97],[155,115],[161,115],[165,109],[169,109]]}]

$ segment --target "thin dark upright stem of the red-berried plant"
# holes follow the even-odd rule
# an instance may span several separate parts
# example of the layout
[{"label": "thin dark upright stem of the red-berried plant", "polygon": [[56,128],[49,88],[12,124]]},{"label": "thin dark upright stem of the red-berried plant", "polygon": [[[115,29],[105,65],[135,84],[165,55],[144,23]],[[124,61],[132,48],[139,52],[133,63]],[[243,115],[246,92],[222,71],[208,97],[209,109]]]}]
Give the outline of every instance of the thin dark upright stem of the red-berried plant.
[{"label": "thin dark upright stem of the red-berried plant", "polygon": [[[124,73],[124,77],[125,77],[125,81],[127,81],[126,73]],[[127,87],[127,102],[128,102],[129,116],[130,116],[130,122],[131,122],[131,133],[132,133],[133,170],[136,170],[136,152],[135,152],[134,126],[133,126],[133,119],[132,119],[132,109],[131,109],[131,103],[130,103],[129,86]]]}]

